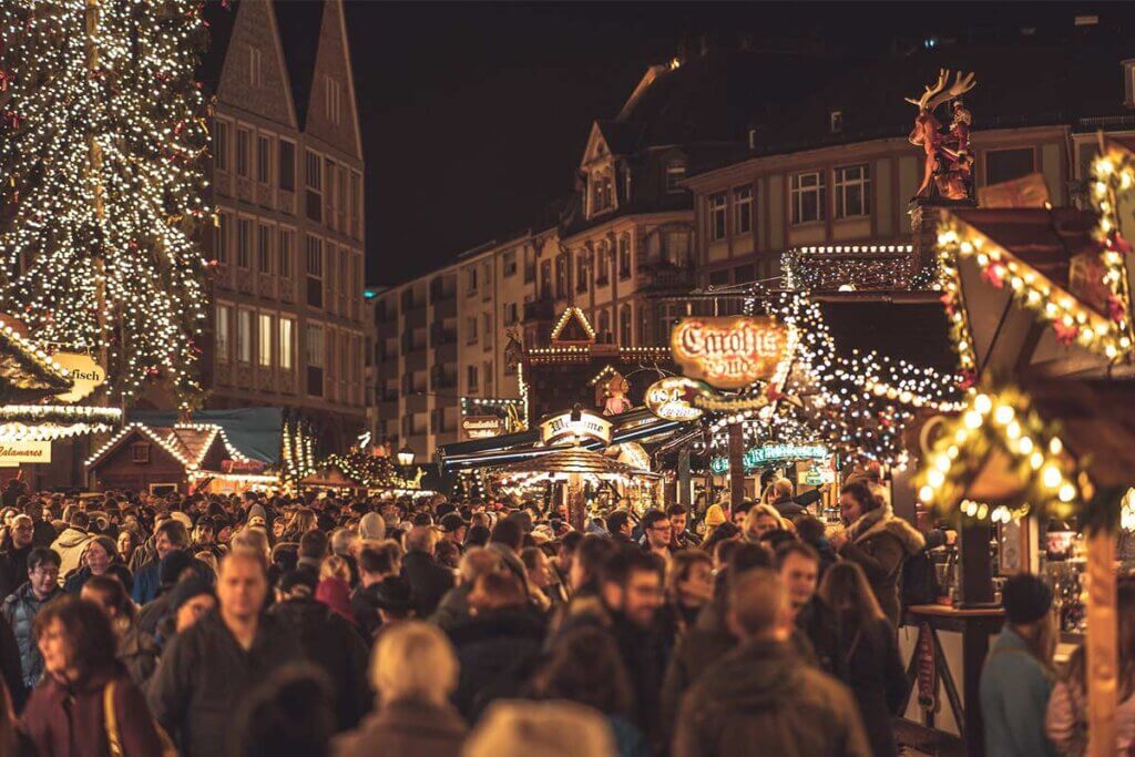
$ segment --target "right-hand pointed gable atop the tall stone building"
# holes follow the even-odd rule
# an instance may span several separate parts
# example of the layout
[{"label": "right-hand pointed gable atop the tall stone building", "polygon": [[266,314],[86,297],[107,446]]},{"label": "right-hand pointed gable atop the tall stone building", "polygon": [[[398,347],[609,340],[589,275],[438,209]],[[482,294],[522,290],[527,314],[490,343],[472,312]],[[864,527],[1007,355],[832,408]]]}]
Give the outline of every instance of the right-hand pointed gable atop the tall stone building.
[{"label": "right-hand pointed gable atop the tall stone building", "polygon": [[[301,127],[306,134],[361,160],[362,142],[343,2],[327,0],[321,5],[318,48],[308,68],[308,101],[304,106],[296,103],[303,113]],[[300,95],[296,92],[296,98]]]}]

